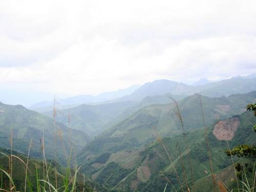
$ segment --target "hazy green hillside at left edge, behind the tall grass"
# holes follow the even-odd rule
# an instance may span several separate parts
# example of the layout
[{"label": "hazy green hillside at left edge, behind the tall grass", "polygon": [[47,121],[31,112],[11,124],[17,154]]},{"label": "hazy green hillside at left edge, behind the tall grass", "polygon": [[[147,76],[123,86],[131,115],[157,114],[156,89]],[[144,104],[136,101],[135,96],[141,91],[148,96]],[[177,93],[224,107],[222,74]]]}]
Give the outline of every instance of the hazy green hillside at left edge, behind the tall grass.
[{"label": "hazy green hillside at left edge, behind the tall grass", "polygon": [[12,138],[13,150],[27,153],[32,139],[31,155],[41,157],[41,147],[44,141],[47,157],[54,159],[55,137],[57,156],[61,162],[65,159],[65,151],[68,153],[71,148],[78,150],[90,141],[87,134],[69,129],[60,123],[56,123],[54,130],[54,122],[51,118],[27,110],[22,105],[0,103],[1,147],[10,148],[10,138]]}]

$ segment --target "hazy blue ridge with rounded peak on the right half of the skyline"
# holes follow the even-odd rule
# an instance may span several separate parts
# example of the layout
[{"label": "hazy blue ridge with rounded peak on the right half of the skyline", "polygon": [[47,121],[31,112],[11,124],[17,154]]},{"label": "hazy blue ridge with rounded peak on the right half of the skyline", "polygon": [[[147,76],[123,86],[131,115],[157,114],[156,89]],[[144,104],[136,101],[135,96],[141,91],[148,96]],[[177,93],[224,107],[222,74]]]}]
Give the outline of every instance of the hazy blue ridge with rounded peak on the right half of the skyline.
[{"label": "hazy blue ridge with rounded peak on the right half of the skyline", "polygon": [[166,79],[159,79],[143,84],[130,95],[115,99],[115,101],[141,101],[146,96],[157,96],[164,94],[193,95],[201,94],[208,97],[229,96],[232,94],[244,94],[256,90],[256,78],[233,77],[217,82],[210,82],[202,86],[188,86]]}]

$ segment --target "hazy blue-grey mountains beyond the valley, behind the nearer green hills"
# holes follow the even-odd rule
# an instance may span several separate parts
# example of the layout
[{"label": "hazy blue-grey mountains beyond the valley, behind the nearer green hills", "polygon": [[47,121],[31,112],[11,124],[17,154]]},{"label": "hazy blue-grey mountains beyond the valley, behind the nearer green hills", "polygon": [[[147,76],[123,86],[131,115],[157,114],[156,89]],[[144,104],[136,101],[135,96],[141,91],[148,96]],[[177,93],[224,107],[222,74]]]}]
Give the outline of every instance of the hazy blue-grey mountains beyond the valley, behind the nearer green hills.
[{"label": "hazy blue-grey mountains beyond the valley, behind the nearer green hills", "polygon": [[[254,90],[256,90],[256,78],[234,77],[196,87],[175,81],[155,80],[145,83],[130,95],[105,103],[60,105],[57,121],[68,125],[67,116],[71,115],[70,126],[73,129],[86,132],[93,138],[102,133],[111,124],[125,119],[147,105],[167,104],[173,102],[172,98],[181,100],[188,95],[197,93],[213,98],[227,97],[231,94],[242,94]],[[42,113],[52,117],[52,106],[40,109],[47,110],[46,112],[42,111]]]}]

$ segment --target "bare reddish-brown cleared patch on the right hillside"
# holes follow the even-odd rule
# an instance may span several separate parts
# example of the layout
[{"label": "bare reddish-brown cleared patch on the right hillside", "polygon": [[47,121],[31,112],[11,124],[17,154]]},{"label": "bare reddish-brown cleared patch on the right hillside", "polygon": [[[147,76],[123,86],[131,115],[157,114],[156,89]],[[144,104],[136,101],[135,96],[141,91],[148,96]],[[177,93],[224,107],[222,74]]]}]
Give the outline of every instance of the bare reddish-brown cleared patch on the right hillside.
[{"label": "bare reddish-brown cleared patch on the right hillside", "polygon": [[234,133],[236,133],[239,124],[240,121],[237,117],[225,119],[215,124],[212,133],[220,141],[230,141],[233,138]]}]

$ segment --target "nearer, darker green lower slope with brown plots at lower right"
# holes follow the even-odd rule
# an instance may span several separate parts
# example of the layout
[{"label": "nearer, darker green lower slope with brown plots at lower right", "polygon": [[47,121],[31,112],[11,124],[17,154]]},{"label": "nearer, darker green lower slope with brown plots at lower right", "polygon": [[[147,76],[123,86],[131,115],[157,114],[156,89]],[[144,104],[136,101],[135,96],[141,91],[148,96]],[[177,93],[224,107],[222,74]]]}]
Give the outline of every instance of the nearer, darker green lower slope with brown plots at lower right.
[{"label": "nearer, darker green lower slope with brown plots at lower right", "polygon": [[[238,118],[231,118],[227,121],[236,119],[239,120],[240,124],[234,137],[229,141],[230,147],[242,143],[255,142],[254,135],[250,134],[251,126],[256,122],[253,113],[246,112],[238,116]],[[224,153],[227,149],[226,141],[219,141],[212,134],[212,129],[215,129],[214,127],[216,126],[211,125],[210,127],[208,138],[214,172],[217,175],[218,173],[222,173],[222,175],[219,174],[220,176],[217,177],[219,179],[223,178],[224,173],[228,174],[230,177],[228,179],[225,178],[225,180],[223,179],[223,182],[227,186],[232,186],[234,184],[232,169],[226,169],[226,167],[231,165],[231,160]],[[187,141],[188,151],[186,151],[185,140]],[[172,138],[165,137],[163,138],[163,143],[168,154],[172,157],[184,188],[185,181],[182,162],[190,189],[194,187],[197,190],[193,191],[212,190],[212,182],[209,179],[207,186],[201,186],[204,185],[202,180],[204,178],[207,180],[210,177],[209,157],[204,139],[204,130],[191,131],[186,134],[185,138],[182,135]],[[180,147],[182,160],[177,146]],[[193,176],[190,172],[189,158]],[[234,160],[237,161],[237,159]],[[109,188],[121,189],[121,191],[163,191],[166,178],[168,178],[178,191],[182,191],[179,187],[173,166],[170,164],[164,148],[159,141],[148,144],[141,150],[119,150],[112,154],[103,153],[100,156],[91,156],[84,162],[83,172]],[[196,181],[195,184],[193,181]],[[171,189],[172,186],[169,184],[167,191]]]}]

